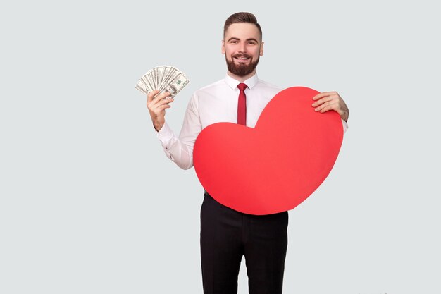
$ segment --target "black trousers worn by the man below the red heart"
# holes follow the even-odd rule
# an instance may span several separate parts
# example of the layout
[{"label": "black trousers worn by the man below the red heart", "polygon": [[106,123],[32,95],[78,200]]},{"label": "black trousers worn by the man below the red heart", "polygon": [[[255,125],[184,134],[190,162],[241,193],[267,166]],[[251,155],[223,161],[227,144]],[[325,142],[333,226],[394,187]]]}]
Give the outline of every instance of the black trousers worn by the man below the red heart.
[{"label": "black trousers worn by the man below the red heart", "polygon": [[216,202],[204,192],[201,267],[204,294],[237,294],[245,257],[249,294],[282,293],[288,213],[255,216]]}]

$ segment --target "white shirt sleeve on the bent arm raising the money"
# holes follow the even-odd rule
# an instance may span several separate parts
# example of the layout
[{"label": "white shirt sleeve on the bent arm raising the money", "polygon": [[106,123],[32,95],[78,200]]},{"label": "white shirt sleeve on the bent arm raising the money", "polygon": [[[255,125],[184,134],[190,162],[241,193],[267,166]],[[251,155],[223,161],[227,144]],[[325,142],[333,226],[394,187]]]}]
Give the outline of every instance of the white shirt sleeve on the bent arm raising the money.
[{"label": "white shirt sleeve on the bent arm raising the money", "polygon": [[181,169],[190,169],[193,166],[193,147],[197,135],[201,133],[201,121],[199,119],[199,104],[197,96],[193,94],[185,112],[184,123],[179,137],[167,123],[159,130],[157,137],[161,142],[167,157]]}]

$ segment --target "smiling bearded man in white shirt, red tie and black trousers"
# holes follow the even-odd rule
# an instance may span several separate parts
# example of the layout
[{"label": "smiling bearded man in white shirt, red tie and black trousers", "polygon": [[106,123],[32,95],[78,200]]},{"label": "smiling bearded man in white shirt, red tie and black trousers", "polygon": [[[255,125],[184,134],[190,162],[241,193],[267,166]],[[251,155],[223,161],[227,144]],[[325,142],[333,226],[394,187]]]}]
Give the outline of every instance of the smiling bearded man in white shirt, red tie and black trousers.
[{"label": "smiling bearded man in white shirt, red tie and black trousers", "polygon": [[[218,122],[254,128],[266,104],[282,90],[259,80],[256,66],[263,56],[262,30],[251,13],[235,13],[223,30],[225,78],[194,92],[179,137],[165,121],[170,93],[147,95],[147,108],[167,157],[182,169],[193,166],[193,146],[206,126]],[[246,97],[246,99],[245,99]],[[313,98],[316,111],[337,111],[347,128],[349,110],[337,92]],[[237,276],[245,257],[250,294],[282,293],[287,250],[288,213],[255,216],[216,202],[204,190],[201,207],[201,267],[205,294],[236,294]]]}]

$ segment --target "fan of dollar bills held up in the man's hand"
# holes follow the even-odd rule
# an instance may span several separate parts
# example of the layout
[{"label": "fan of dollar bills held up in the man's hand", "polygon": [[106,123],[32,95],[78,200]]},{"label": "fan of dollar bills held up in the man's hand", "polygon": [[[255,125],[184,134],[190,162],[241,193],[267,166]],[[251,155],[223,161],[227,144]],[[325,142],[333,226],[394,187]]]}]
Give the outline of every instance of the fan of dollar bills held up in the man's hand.
[{"label": "fan of dollar bills held up in the man's hand", "polygon": [[175,97],[189,82],[185,74],[174,66],[156,66],[139,78],[135,88],[144,94],[159,90],[159,94],[170,92],[170,97]]}]

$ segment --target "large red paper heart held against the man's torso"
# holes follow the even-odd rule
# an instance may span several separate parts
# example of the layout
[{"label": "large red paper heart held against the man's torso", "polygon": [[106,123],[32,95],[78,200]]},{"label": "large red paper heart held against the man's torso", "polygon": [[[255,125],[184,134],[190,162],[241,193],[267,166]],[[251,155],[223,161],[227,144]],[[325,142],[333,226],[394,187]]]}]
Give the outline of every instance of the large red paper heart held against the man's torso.
[{"label": "large red paper heart held against the man's torso", "polygon": [[193,160],[199,181],[221,204],[246,214],[297,207],[328,176],[342,145],[335,111],[314,111],[308,87],[282,90],[255,128],[214,123],[201,131]]}]

